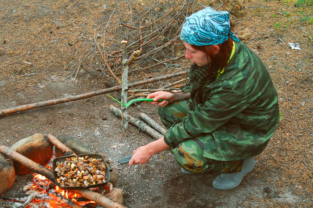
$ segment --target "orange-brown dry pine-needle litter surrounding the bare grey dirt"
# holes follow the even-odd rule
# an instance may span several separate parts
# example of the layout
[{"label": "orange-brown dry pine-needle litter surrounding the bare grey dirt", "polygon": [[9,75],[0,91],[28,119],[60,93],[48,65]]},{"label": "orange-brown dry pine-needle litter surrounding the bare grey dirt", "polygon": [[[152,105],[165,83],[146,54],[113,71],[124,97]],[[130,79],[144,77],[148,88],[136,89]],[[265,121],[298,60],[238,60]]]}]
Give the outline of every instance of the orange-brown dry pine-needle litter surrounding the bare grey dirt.
[{"label": "orange-brown dry pine-needle litter surrounding the bare grey dirt", "polygon": [[[220,10],[231,10],[235,32],[264,61],[279,95],[280,124],[258,157],[264,164],[259,169],[260,175],[269,176],[272,170],[280,169],[283,174],[275,183],[282,193],[291,187],[298,195],[313,197],[312,4],[296,7],[295,3],[233,1]],[[213,8],[222,5],[219,1],[210,4]],[[114,1],[91,0],[0,2],[0,79],[5,82],[0,85],[1,90],[12,96],[18,90],[32,91],[34,85],[43,81],[73,79],[73,73],[92,46],[92,41],[84,42],[86,31],[90,34],[95,28],[101,31],[114,6]],[[120,9],[122,12],[123,8]],[[301,50],[292,50],[288,42],[300,43]],[[99,89],[115,85],[105,73],[90,75],[97,74],[95,69],[100,62],[95,56],[87,58],[79,81],[98,80]],[[130,79],[143,80],[159,73],[147,70],[132,74]],[[266,203],[286,206],[271,199]]]}]

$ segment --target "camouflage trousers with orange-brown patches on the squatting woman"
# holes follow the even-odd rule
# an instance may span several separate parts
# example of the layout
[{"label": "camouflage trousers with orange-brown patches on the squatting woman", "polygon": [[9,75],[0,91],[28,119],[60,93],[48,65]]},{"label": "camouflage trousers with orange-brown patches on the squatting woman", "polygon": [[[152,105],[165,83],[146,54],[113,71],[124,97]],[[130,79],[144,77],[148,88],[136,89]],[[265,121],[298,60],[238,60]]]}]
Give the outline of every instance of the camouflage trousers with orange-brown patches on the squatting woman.
[{"label": "camouflage trousers with orange-brown patches on the squatting woman", "polygon": [[[162,123],[168,129],[174,123],[182,122],[190,111],[190,106],[190,100],[179,100],[165,107],[159,107]],[[213,150],[215,143],[211,134],[187,139],[173,148],[172,152],[178,165],[189,172],[196,173],[224,174],[241,171],[243,160],[217,161],[203,157],[204,143],[208,143],[208,141],[212,143],[209,146],[212,146]]]}]

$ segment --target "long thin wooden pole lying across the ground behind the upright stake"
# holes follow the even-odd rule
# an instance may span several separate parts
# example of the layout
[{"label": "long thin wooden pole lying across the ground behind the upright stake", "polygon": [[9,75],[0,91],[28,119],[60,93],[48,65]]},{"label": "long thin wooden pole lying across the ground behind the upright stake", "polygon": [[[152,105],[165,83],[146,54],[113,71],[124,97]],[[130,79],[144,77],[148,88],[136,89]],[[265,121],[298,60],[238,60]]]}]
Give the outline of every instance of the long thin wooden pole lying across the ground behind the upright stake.
[{"label": "long thin wooden pole lying across the ground behind the upright stake", "polygon": [[[173,73],[173,74],[169,74],[169,75],[155,77],[155,78],[151,78],[148,80],[142,80],[142,81],[138,81],[138,82],[134,82],[132,84],[129,84],[128,88],[136,87],[136,86],[144,85],[144,84],[148,84],[148,83],[153,83],[153,82],[157,82],[160,80],[167,80],[167,79],[170,79],[172,77],[181,76],[181,75],[185,75],[185,74],[187,74],[187,71],[182,71],[182,72],[178,72],[178,73]],[[100,90],[85,93],[85,94],[69,96],[69,97],[65,97],[65,98],[59,98],[59,99],[48,100],[48,101],[42,101],[39,103],[20,105],[18,107],[0,110],[0,116],[6,115],[6,114],[12,114],[12,113],[16,113],[16,112],[21,112],[21,111],[26,111],[26,110],[30,110],[30,109],[34,109],[34,108],[41,108],[41,107],[45,107],[45,106],[49,106],[49,105],[66,103],[66,102],[70,102],[70,101],[74,101],[74,100],[91,98],[91,97],[96,96],[96,95],[105,94],[105,93],[109,93],[109,92],[115,92],[115,91],[119,91],[121,89],[122,89],[121,86],[115,86],[115,87],[100,89]]]}]

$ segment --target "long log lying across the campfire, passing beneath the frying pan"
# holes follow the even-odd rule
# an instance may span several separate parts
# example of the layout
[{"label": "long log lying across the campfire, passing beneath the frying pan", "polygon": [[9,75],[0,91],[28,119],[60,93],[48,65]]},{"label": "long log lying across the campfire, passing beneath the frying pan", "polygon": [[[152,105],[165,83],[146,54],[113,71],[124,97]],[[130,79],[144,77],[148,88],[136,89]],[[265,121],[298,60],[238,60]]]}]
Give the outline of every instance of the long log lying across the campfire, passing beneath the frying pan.
[{"label": "long log lying across the campfire, passing beneath the frying pan", "polygon": [[[54,182],[54,175],[51,170],[49,170],[46,167],[43,167],[39,165],[38,163],[28,159],[27,157],[19,154],[18,152],[1,145],[0,146],[0,152],[8,156],[9,158],[23,164],[33,172],[36,172],[40,175],[43,175],[44,177],[48,178],[50,181]],[[59,187],[62,189],[62,187]],[[89,199],[91,201],[95,201],[101,206],[109,207],[109,208],[123,208],[124,206],[116,203],[115,201],[112,201],[104,196],[101,196],[101,194],[96,193],[94,191],[90,191],[89,189],[77,189],[77,190],[68,190],[75,192],[77,194],[80,194],[81,196],[85,197],[86,199]]]}]

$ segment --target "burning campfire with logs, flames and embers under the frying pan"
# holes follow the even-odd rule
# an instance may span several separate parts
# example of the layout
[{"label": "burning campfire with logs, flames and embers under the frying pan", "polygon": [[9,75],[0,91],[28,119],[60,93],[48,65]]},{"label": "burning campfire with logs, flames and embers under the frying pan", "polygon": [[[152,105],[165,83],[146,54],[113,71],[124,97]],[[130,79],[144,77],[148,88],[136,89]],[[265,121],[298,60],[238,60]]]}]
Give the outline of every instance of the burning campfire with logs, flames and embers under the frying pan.
[{"label": "burning campfire with logs, flames and embers under the frying pan", "polygon": [[[33,135],[35,136],[35,135]],[[47,137],[45,137],[47,139]],[[48,136],[48,141],[64,154],[77,156],[74,151],[66,147],[57,138],[52,135]],[[57,149],[56,149],[57,150]],[[0,152],[18,162],[18,168],[33,172],[31,181],[23,187],[27,197],[23,199],[8,198],[1,200],[0,204],[10,204],[8,207],[124,207],[122,190],[113,187],[109,181],[101,183],[97,187],[59,187],[53,173],[55,157],[49,158],[49,163],[38,164],[38,162],[23,156],[22,154],[6,146],[0,146]],[[38,156],[35,156],[38,157]],[[71,156],[70,156],[71,157]],[[100,156],[102,158],[102,156]],[[106,155],[105,155],[106,157]],[[62,157],[57,157],[59,160]],[[105,160],[106,161],[106,160]],[[14,168],[17,169],[16,164]],[[22,170],[23,172],[25,170]],[[35,173],[36,174],[35,174]],[[110,175],[108,175],[108,180]],[[15,204],[15,205],[14,205]]]}]

